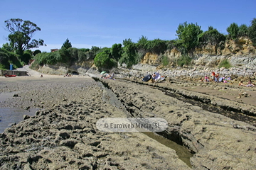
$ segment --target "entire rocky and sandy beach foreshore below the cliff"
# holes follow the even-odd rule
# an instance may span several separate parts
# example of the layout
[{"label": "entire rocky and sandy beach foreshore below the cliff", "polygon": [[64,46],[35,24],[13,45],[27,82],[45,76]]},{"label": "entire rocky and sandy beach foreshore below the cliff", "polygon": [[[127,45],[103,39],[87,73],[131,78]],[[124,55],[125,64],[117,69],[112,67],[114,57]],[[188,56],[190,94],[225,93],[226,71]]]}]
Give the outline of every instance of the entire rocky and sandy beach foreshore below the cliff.
[{"label": "entire rocky and sandy beach foreshore below the cliff", "polygon": [[[38,109],[0,134],[1,169],[256,169],[255,88],[28,72],[0,77],[0,108]],[[127,117],[164,118],[168,128],[145,134],[95,125]]]}]

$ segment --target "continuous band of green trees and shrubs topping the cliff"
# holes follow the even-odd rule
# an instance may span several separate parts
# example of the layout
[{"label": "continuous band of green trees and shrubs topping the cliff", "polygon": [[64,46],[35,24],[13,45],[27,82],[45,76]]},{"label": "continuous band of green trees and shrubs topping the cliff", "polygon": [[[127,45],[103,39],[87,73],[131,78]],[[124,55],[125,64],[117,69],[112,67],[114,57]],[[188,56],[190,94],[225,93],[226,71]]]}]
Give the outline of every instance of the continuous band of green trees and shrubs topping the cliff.
[{"label": "continuous band of green trees and shrubs topping the cliff", "polygon": [[[205,45],[215,45],[215,52],[218,48],[223,49],[225,40],[238,40],[240,37],[248,36],[256,46],[256,18],[251,21],[251,26],[245,24],[238,26],[237,23],[231,23],[228,26],[228,35],[223,35],[216,28],[208,27],[208,30],[201,30],[197,23],[181,23],[176,30],[177,38],[175,40],[149,40],[142,35],[136,42],[128,38],[121,43],[115,43],[112,47],[96,47],[78,49],[72,47],[68,38],[63,43],[60,50],[56,52],[41,52],[36,50],[32,52],[31,48],[45,45],[43,40],[32,40],[32,35],[41,28],[38,28],[31,21],[21,19],[10,19],[5,21],[6,28],[9,30],[9,43],[2,45],[0,51],[0,67],[9,69],[10,63],[16,63],[14,67],[27,63],[31,58],[36,61],[33,67],[42,66],[43,64],[65,64],[67,67],[75,62],[94,61],[99,69],[112,69],[117,64],[126,64],[127,68],[132,68],[142,60],[147,52],[159,55],[161,64],[167,66],[170,62],[180,67],[191,64],[192,58],[189,57],[196,48],[202,48]],[[165,56],[166,50],[176,49],[181,52],[178,60],[170,61]],[[223,60],[220,67],[230,67],[228,60]],[[223,66],[224,65],[224,66]]]}]

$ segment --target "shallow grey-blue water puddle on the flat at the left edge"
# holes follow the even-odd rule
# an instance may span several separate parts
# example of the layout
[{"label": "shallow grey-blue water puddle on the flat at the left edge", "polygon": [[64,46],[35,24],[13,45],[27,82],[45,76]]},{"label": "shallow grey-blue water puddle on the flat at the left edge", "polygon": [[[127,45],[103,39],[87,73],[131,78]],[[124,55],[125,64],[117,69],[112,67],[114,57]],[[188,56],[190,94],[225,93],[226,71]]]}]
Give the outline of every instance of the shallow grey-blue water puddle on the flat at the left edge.
[{"label": "shallow grey-blue water puddle on the flat at the left edge", "polygon": [[23,115],[36,115],[38,108],[31,108],[28,111],[21,108],[0,108],[0,133],[9,128],[12,123],[23,121]]}]

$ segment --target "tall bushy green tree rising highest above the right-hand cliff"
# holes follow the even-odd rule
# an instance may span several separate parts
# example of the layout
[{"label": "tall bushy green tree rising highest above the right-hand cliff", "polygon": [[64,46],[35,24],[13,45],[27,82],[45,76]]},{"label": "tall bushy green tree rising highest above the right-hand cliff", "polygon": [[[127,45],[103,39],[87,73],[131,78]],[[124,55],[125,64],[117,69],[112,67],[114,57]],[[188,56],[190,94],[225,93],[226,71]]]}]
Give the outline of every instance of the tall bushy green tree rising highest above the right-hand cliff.
[{"label": "tall bushy green tree rising highest above the right-hand cliff", "polygon": [[201,30],[201,26],[198,26],[197,23],[185,22],[178,25],[176,33],[178,36],[177,44],[181,45],[185,53],[188,53],[198,45],[198,35],[203,33],[203,30]]}]

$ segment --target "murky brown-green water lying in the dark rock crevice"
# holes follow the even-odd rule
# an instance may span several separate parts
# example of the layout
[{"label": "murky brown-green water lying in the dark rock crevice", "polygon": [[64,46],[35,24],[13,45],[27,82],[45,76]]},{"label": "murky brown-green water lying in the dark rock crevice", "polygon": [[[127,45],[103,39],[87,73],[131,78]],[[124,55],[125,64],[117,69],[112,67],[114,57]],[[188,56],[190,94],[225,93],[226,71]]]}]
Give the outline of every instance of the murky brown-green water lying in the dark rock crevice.
[{"label": "murky brown-green water lying in the dark rock crevice", "polygon": [[142,133],[156,140],[162,145],[165,145],[166,147],[174,149],[176,151],[176,154],[178,155],[178,158],[192,168],[190,158],[193,157],[193,154],[191,154],[191,152],[189,152],[188,149],[186,149],[186,147],[178,145],[176,144],[176,142],[168,140],[160,135],[155,134],[154,132],[142,132]]}]

